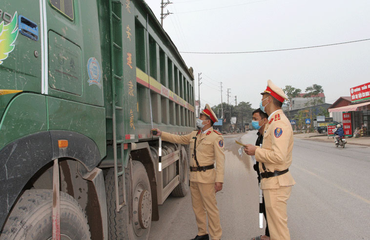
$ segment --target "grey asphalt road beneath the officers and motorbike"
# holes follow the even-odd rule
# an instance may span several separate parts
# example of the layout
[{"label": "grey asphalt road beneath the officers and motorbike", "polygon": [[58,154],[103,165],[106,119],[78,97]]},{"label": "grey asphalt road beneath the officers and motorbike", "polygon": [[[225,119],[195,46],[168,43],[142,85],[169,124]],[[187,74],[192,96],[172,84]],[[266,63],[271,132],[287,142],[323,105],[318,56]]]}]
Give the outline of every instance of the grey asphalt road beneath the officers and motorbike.
[{"label": "grey asphalt road beneath the officers and motorbike", "polygon": [[[258,227],[258,181],[239,145],[255,143],[256,131],[226,135],[225,183],[217,193],[224,240],[263,235]],[[296,185],[288,200],[292,240],[370,239],[370,148],[294,139],[289,171]],[[169,197],[152,222],[150,240],[189,240],[197,234],[190,192]],[[266,223],[264,223],[266,226]]]}]

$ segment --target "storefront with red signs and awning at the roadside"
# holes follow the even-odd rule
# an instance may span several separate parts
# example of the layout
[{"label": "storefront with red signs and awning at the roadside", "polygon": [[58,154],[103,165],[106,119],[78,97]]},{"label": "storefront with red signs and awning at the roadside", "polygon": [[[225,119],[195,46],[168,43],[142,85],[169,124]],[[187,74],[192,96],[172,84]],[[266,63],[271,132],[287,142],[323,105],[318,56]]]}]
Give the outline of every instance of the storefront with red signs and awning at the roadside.
[{"label": "storefront with red signs and awning at the roadside", "polygon": [[370,83],[349,89],[351,103],[348,106],[329,108],[329,112],[342,112],[343,130],[351,136],[356,128],[363,136],[370,137]]}]

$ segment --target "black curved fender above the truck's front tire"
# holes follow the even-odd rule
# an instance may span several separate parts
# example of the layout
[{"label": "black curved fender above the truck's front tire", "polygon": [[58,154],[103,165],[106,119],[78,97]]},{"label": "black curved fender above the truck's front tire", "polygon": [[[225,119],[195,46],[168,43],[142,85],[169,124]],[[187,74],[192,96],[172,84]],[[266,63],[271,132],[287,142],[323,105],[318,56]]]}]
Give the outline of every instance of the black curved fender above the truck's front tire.
[{"label": "black curved fender above the truck's front tire", "polygon": [[[58,140],[68,147],[59,148]],[[56,158],[76,159],[91,172],[100,162],[97,145],[90,138],[70,131],[42,131],[15,140],[0,150],[0,226],[27,182]],[[104,183],[103,183],[104,185]]]}]

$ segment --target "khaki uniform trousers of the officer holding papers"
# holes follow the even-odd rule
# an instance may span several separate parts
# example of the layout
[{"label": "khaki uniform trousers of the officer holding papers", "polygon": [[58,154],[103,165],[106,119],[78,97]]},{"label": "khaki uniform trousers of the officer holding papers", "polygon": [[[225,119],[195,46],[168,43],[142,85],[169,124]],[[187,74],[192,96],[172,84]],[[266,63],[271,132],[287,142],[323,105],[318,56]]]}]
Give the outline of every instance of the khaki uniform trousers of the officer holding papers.
[{"label": "khaki uniform trousers of the officer holding papers", "polygon": [[287,214],[290,192],[291,186],[263,190],[270,240],[290,240]]}]

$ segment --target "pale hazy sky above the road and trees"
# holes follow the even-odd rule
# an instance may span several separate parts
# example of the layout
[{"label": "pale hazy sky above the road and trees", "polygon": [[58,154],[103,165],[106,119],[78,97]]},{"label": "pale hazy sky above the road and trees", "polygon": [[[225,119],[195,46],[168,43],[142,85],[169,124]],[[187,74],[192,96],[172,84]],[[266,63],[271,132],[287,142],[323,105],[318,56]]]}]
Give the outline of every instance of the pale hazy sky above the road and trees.
[{"label": "pale hazy sky above the road and trees", "polygon": [[[166,1],[166,0],[164,0]],[[146,0],[160,20],[161,0]],[[179,51],[263,51],[370,39],[370,0],[171,0],[164,30]],[[181,53],[202,72],[201,104],[250,102],[259,107],[267,79],[284,88],[324,88],[327,103],[370,82],[370,41],[243,54]]]}]

